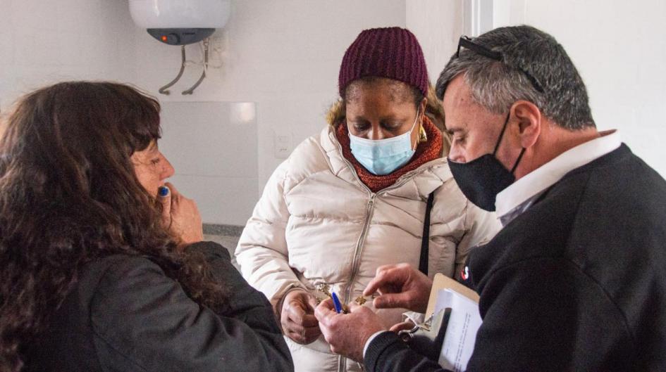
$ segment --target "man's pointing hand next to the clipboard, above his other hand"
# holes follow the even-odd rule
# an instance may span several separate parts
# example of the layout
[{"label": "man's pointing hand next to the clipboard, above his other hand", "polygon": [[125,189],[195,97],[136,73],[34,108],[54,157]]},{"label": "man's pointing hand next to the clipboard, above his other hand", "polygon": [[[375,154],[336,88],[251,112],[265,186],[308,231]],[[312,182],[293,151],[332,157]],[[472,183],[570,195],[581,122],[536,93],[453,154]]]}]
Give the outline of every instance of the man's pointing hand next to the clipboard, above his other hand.
[{"label": "man's pointing hand next to the clipboard, above his other hand", "polygon": [[413,312],[426,312],[433,281],[410,264],[384,265],[368,283],[363,295],[378,292],[374,307],[386,309],[403,307]]}]

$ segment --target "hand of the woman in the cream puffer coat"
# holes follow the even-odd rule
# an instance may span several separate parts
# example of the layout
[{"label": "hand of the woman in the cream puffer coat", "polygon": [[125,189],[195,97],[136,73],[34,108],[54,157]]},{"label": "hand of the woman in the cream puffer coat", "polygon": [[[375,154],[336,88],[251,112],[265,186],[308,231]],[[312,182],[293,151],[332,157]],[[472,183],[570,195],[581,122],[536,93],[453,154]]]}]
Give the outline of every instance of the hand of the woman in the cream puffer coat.
[{"label": "hand of the woman in the cream puffer coat", "polygon": [[316,298],[305,290],[292,290],[285,295],[280,323],[288,338],[307,345],[321,335],[319,321],[314,317],[316,305]]}]

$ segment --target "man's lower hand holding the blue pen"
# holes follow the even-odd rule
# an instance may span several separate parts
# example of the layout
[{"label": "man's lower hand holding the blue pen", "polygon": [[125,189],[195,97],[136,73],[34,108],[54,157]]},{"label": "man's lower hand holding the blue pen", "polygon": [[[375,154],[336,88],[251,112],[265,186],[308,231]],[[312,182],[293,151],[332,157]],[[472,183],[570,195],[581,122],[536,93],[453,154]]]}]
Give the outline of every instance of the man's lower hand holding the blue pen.
[{"label": "man's lower hand holding the blue pen", "polygon": [[379,316],[371,309],[350,304],[350,314],[338,314],[331,298],[321,302],[314,311],[319,327],[331,344],[331,351],[355,361],[363,361],[363,348],[371,335],[386,331]]}]

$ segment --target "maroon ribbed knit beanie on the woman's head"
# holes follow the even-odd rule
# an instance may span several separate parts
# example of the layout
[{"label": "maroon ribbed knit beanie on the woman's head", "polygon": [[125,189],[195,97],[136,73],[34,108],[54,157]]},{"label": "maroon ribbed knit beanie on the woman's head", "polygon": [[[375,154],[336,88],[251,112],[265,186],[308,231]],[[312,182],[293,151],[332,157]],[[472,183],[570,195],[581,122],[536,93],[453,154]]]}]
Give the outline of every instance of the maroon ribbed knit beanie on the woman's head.
[{"label": "maroon ribbed knit beanie on the woman's head", "polygon": [[340,96],[350,82],[367,76],[388,77],[428,95],[428,70],[417,37],[400,27],[364,30],[345,52],[340,65]]}]

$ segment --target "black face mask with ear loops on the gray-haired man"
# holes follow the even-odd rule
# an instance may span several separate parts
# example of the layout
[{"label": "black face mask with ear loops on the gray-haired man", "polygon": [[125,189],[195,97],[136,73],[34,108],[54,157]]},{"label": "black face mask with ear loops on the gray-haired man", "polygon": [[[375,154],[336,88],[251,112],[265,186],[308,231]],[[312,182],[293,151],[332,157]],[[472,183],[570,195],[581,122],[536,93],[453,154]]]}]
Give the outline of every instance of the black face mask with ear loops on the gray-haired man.
[{"label": "black face mask with ear loops on the gray-haired man", "polygon": [[516,181],[513,172],[525,153],[523,148],[510,171],[502,165],[500,160],[495,158],[504,131],[507,129],[510,115],[511,113],[507,115],[502,133],[500,133],[500,139],[495,144],[495,150],[492,154],[483,155],[471,162],[454,162],[450,158],[448,160],[453,179],[455,179],[465,197],[477,207],[489,212],[495,211],[497,194]]}]

